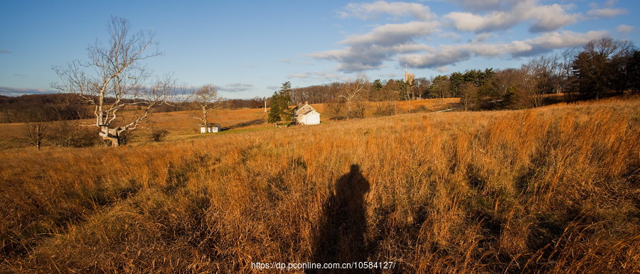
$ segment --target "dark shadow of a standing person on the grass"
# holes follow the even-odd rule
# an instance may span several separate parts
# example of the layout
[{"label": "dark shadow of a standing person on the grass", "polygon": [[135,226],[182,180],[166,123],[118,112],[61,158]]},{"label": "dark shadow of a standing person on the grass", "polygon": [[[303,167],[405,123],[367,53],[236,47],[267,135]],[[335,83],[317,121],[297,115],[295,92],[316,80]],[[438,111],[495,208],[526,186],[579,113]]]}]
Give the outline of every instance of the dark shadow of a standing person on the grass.
[{"label": "dark shadow of a standing person on the grass", "polygon": [[[320,220],[319,237],[314,244],[313,262],[363,262],[368,257],[365,241],[367,227],[365,195],[368,180],[359,165],[336,180],[334,193],[326,200]],[[354,273],[351,269],[348,272]],[[309,269],[306,273],[341,273],[343,270]],[[355,271],[358,272],[357,270]]]}]

